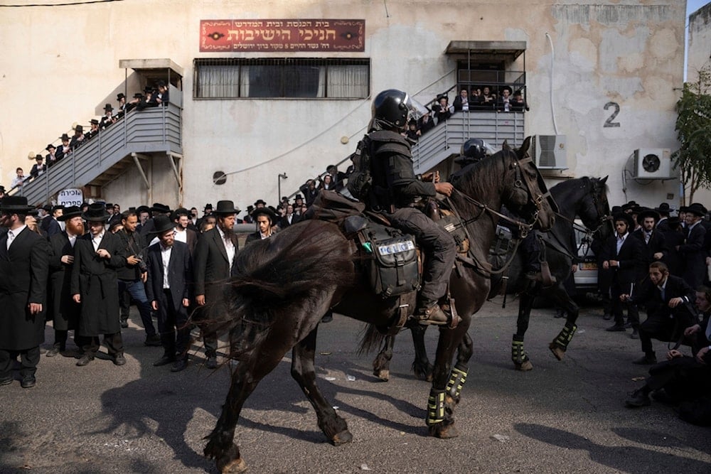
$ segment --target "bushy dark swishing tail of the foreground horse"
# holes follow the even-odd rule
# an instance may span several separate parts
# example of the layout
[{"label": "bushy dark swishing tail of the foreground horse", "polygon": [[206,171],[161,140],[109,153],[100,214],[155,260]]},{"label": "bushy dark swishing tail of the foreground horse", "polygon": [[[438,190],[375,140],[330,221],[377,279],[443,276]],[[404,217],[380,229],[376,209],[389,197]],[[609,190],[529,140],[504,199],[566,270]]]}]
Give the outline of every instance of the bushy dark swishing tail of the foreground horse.
[{"label": "bushy dark swishing tail of the foreground horse", "polygon": [[319,220],[252,242],[235,258],[235,275],[207,321],[209,330],[230,333],[230,352],[244,352],[274,321],[298,318],[294,312],[306,300],[324,298],[354,278],[348,240]]}]

